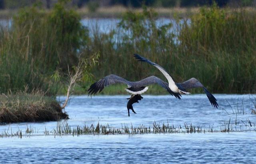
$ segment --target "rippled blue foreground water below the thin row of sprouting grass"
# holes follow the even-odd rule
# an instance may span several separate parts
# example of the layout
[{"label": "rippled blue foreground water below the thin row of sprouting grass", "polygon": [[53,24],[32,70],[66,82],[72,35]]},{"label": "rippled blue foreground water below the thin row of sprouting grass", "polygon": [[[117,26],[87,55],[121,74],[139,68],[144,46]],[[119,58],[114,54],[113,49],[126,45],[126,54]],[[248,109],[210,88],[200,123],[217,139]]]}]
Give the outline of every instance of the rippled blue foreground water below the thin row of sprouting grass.
[{"label": "rippled blue foreground water below the thin row of sprouting grass", "polygon": [[2,139],[0,159],[10,163],[255,163],[255,137],[256,133],[231,133]]}]

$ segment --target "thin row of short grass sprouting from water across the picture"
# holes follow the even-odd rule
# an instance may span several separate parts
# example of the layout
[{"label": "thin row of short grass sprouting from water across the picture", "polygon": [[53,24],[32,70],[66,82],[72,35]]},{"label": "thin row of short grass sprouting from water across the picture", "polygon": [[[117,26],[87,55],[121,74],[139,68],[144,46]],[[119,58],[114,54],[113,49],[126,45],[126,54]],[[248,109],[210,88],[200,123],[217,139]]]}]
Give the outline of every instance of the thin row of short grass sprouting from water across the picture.
[{"label": "thin row of short grass sprouting from water across the picture", "polygon": [[30,137],[36,135],[50,135],[50,136],[80,136],[80,135],[136,135],[136,134],[190,134],[190,133],[234,133],[234,132],[256,132],[256,125],[249,119],[241,121],[241,123],[234,124],[233,121],[224,121],[220,126],[213,127],[207,125],[192,125],[192,123],[184,123],[184,125],[173,125],[167,123],[156,123],[152,125],[137,125],[121,124],[121,127],[112,127],[109,124],[101,125],[99,122],[96,125],[84,125],[84,126],[70,126],[66,120],[58,121],[56,128],[51,131],[46,127],[43,133],[36,130],[36,128],[28,127],[26,131],[22,133],[20,129],[13,132],[11,127],[0,134],[0,137]]}]

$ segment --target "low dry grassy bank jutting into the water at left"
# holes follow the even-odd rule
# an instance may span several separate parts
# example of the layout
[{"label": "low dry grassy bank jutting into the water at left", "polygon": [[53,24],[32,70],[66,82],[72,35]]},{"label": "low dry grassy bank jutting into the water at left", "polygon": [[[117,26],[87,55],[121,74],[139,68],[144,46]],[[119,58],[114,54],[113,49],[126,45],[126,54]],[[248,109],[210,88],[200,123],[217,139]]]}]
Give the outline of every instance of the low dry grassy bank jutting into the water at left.
[{"label": "low dry grassy bank jutting into the water at left", "polygon": [[[54,97],[40,92],[0,96],[0,123],[57,121],[67,119]],[[27,132],[32,131],[27,128]]]}]

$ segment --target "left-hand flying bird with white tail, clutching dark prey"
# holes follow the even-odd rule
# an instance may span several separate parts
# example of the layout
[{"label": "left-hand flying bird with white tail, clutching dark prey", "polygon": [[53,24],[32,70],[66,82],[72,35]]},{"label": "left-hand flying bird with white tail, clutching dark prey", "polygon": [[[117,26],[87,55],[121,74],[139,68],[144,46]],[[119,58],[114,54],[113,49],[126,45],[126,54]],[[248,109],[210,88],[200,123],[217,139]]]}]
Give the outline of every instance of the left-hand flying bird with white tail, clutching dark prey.
[{"label": "left-hand flying bird with white tail, clutching dark prey", "polygon": [[166,89],[167,92],[169,92],[169,94],[171,94],[172,96],[175,96],[178,99],[180,99],[180,97],[181,97],[181,95],[179,93],[175,93],[175,92],[172,92],[172,90],[170,90],[170,88],[168,87],[168,83],[164,82],[163,80],[161,80],[160,78],[158,78],[156,76],[150,76],[150,77],[144,78],[140,81],[130,82],[130,81],[128,81],[120,76],[114,75],[114,74],[110,74],[110,75],[98,80],[94,84],[92,84],[90,86],[90,88],[88,89],[88,94],[89,95],[96,94],[97,92],[101,92],[104,89],[104,87],[112,85],[112,84],[116,84],[116,83],[126,84],[128,86],[128,88],[126,88],[125,90],[127,92],[129,92],[130,94],[132,94],[131,98],[129,98],[130,100],[127,103],[128,116],[130,116],[129,109],[132,109],[132,111],[134,113],[136,113],[132,107],[132,104],[135,102],[138,102],[138,100],[142,99],[142,96],[140,96],[140,94],[142,94],[148,90],[147,85],[158,84],[158,85],[162,86],[164,89]]}]

